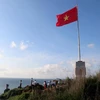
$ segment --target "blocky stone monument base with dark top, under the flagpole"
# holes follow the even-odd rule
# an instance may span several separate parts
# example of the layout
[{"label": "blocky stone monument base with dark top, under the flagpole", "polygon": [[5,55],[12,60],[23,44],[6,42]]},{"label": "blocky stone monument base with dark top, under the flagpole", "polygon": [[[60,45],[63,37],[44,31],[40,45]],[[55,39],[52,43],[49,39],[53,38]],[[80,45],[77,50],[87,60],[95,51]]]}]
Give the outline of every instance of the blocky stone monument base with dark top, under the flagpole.
[{"label": "blocky stone monument base with dark top, under the flagpole", "polygon": [[75,68],[76,79],[85,78],[86,76],[86,67],[85,62],[77,61]]}]

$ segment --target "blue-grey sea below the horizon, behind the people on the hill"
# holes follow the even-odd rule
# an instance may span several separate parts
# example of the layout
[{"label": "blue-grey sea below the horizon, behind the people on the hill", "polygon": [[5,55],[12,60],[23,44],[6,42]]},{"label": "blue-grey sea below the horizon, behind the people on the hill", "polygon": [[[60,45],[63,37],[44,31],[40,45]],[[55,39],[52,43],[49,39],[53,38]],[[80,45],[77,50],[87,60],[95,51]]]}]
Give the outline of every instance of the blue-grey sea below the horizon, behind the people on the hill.
[{"label": "blue-grey sea below the horizon, behind the people on the hill", "polygon": [[[4,93],[6,84],[9,84],[10,89],[17,88],[20,84],[20,80],[22,80],[22,87],[31,85],[31,79],[29,78],[0,78],[0,94]],[[36,80],[37,83],[43,85],[44,81],[50,81],[53,79],[33,79],[33,80]]]}]

